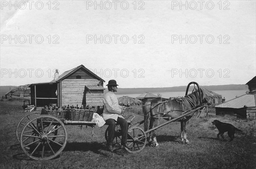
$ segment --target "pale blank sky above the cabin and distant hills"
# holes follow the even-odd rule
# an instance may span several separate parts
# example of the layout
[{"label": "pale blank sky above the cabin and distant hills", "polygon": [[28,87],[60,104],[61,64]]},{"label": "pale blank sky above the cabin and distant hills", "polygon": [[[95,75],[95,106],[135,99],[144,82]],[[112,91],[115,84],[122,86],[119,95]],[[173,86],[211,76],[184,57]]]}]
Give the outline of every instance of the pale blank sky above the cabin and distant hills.
[{"label": "pale blank sky above the cabin and distant hills", "polygon": [[121,88],[245,84],[256,76],[255,2],[1,0],[1,86],[79,65]]}]

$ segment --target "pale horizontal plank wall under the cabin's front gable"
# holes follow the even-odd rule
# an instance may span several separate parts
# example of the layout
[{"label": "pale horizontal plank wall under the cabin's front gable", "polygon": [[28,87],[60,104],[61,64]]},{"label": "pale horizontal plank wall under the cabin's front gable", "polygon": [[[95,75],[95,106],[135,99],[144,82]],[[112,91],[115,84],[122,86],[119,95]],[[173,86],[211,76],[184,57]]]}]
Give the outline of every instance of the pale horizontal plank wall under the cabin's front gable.
[{"label": "pale horizontal plank wall under the cabin's front gable", "polygon": [[[82,105],[84,97],[84,86],[98,85],[99,80],[96,79],[65,79],[61,82],[62,106],[78,104]],[[87,93],[86,103],[93,105],[101,105],[103,101],[103,93]]]}]

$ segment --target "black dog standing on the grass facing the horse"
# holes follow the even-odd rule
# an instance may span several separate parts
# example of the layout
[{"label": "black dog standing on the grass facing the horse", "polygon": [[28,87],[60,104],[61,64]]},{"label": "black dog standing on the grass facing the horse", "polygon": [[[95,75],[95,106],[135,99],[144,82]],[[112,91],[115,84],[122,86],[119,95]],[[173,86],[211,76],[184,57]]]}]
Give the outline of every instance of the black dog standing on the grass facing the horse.
[{"label": "black dog standing on the grass facing the horse", "polygon": [[219,130],[217,138],[219,138],[219,135],[221,135],[221,137],[224,138],[223,134],[224,134],[224,132],[227,132],[228,136],[230,137],[230,141],[232,141],[235,137],[235,132],[242,131],[242,130],[239,130],[238,128],[236,128],[235,126],[233,126],[232,124],[223,123],[218,120],[212,121],[212,124],[214,124],[217,127],[217,129]]}]

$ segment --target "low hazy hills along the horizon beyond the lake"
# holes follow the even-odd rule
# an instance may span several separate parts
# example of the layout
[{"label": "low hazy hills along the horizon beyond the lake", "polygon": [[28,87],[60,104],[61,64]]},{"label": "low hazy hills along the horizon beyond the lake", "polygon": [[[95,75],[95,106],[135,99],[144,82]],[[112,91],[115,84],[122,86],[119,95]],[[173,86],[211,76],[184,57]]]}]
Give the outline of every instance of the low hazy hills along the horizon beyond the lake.
[{"label": "low hazy hills along the horizon beyond the lake", "polygon": [[[6,92],[17,86],[0,86],[0,96],[4,96]],[[201,86],[208,90],[247,90],[247,85],[212,85],[212,86]],[[192,86],[190,87],[192,89]],[[105,90],[107,92],[108,89]],[[137,93],[158,93],[158,92],[180,92],[186,91],[186,86],[177,87],[156,87],[156,88],[118,88],[118,94],[137,94]]]}]

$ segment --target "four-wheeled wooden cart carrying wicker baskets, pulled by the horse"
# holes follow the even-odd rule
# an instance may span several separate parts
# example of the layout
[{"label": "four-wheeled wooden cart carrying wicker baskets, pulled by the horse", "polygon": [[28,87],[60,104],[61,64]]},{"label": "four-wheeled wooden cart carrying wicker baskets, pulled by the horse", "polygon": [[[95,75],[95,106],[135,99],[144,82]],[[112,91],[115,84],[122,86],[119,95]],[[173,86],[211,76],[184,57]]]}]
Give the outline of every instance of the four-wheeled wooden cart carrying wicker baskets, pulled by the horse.
[{"label": "four-wheeled wooden cart carrying wicker baskets, pulled by the horse", "polygon": [[[81,111],[80,113],[85,113]],[[59,115],[58,115],[59,114]],[[30,112],[24,115],[16,129],[16,137],[20,142],[23,152],[35,160],[50,160],[61,154],[67,144],[66,125],[87,125],[94,127],[94,121],[76,121],[67,120],[63,116],[63,111],[49,112],[41,114],[40,111]],[[143,129],[138,125],[143,121],[131,126],[134,115],[128,119],[128,144],[131,148],[125,148],[128,152],[141,151],[146,144],[146,135]],[[90,119],[91,120],[91,119]],[[121,143],[120,127],[117,125],[115,132],[116,144]],[[138,139],[138,137],[140,137]],[[105,138],[108,138],[108,130],[105,132]]]}]

